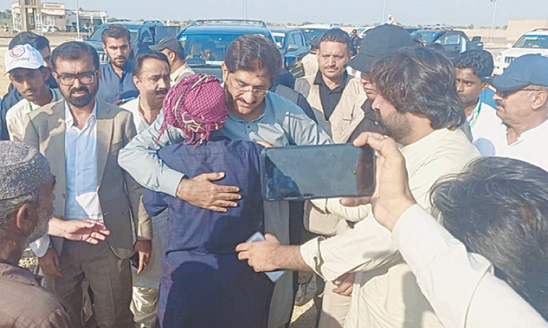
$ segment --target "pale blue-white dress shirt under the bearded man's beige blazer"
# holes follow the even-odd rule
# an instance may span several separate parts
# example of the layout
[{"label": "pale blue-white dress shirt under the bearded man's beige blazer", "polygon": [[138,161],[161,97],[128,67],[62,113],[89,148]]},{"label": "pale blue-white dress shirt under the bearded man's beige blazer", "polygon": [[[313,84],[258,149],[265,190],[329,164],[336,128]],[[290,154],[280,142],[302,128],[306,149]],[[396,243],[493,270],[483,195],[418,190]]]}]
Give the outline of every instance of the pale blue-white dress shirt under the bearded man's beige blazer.
[{"label": "pale blue-white dress shirt under the bearded man's beige blazer", "polygon": [[74,125],[65,102],[65,219],[103,220],[97,193],[97,100],[84,128]]}]

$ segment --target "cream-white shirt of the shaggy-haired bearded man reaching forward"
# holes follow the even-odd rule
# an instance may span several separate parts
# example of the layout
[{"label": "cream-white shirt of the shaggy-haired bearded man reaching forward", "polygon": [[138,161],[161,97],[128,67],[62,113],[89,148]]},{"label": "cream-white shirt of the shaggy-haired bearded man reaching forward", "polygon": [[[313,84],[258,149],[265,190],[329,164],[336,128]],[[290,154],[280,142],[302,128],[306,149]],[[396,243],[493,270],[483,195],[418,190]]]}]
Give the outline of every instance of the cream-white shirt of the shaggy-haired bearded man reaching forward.
[{"label": "cream-white shirt of the shaggy-haired bearded man reaching forward", "polygon": [[[462,171],[479,156],[460,129],[436,130],[401,148],[415,200],[429,208],[429,190],[441,176]],[[359,221],[343,234],[301,245],[303,260],[316,273],[333,281],[357,271],[347,328],[443,327],[403,261],[390,232],[371,213],[371,206],[345,207],[325,202],[324,211]],[[315,202],[317,204],[317,201]],[[356,219],[358,217],[358,219]]]}]

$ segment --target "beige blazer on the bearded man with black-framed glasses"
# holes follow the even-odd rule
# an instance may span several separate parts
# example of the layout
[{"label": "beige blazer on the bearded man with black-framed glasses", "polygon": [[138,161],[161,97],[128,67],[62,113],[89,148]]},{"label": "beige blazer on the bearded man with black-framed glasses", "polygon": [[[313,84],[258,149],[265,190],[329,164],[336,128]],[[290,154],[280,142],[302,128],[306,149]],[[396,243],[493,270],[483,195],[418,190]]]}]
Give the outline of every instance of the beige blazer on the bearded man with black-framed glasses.
[{"label": "beige blazer on the bearded man with black-framed glasses", "polygon": [[[64,217],[66,198],[64,151],[64,100],[28,113],[25,142],[35,146],[48,159],[56,183],[53,188],[53,215]],[[119,258],[133,251],[132,224],[137,240],[151,240],[151,220],[142,205],[142,187],[118,165],[118,152],[136,135],[132,114],[103,101],[97,102],[97,192],[105,226],[111,234],[107,241]],[[58,254],[63,238],[51,237]]]}]

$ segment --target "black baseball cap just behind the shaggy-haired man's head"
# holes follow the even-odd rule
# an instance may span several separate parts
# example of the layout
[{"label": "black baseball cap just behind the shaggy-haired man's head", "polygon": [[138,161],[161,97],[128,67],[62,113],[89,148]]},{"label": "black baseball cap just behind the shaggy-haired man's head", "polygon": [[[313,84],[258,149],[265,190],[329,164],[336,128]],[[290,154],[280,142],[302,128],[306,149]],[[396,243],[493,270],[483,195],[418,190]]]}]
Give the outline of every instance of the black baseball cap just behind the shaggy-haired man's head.
[{"label": "black baseball cap just behind the shaggy-haired man's head", "polygon": [[360,42],[360,52],[348,62],[360,72],[371,72],[373,63],[415,42],[408,31],[396,25],[380,25],[366,31]]}]

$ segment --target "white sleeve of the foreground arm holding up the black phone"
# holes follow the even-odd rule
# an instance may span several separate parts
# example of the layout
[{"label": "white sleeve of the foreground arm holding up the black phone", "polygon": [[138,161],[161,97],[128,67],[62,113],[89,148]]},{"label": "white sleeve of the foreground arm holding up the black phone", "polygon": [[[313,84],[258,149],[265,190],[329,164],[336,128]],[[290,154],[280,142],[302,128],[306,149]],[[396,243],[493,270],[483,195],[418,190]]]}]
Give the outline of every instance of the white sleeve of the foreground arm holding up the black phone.
[{"label": "white sleeve of the foreground arm holding up the black phone", "polygon": [[490,262],[451,236],[421,206],[401,215],[392,238],[421,291],[447,328],[548,327]]}]

